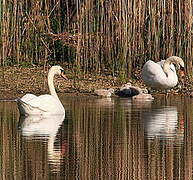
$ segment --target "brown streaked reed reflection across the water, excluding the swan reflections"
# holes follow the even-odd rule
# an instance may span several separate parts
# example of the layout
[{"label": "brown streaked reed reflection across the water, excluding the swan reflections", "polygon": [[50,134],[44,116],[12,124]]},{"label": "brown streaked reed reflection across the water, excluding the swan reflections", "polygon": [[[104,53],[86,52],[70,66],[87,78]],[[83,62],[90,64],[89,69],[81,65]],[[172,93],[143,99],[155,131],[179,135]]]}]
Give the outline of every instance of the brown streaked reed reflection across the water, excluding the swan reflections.
[{"label": "brown streaked reed reflection across the water, excluding the swan reflections", "polygon": [[140,120],[144,108],[132,110],[128,99],[112,99],[107,104],[95,97],[63,100],[67,116],[55,144],[63,159],[56,174],[48,165],[46,142],[22,138],[17,129],[16,104],[0,102],[2,179],[192,179],[193,103],[190,99],[176,100],[181,102],[178,129],[184,127],[180,143],[178,138],[146,140]]}]

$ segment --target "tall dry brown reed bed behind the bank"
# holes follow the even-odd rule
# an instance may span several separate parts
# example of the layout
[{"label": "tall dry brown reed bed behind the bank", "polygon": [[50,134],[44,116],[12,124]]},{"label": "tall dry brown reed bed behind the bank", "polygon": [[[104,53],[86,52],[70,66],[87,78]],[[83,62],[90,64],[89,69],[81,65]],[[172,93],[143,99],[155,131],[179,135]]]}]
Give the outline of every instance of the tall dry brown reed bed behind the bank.
[{"label": "tall dry brown reed bed behind the bank", "polygon": [[67,62],[130,77],[145,61],[184,59],[192,76],[191,0],[3,0],[0,63]]}]

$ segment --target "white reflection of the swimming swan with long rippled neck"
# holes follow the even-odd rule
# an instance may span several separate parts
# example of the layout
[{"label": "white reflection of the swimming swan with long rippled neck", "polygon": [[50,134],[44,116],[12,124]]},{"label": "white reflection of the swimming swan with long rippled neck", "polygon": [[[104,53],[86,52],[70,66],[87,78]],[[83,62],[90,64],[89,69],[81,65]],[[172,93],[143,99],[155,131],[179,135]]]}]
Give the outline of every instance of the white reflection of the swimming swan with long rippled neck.
[{"label": "white reflection of the swimming swan with long rippled neck", "polygon": [[[60,147],[55,147],[57,132],[64,121],[65,115],[51,116],[21,116],[22,135],[30,139],[41,139],[48,143],[48,160],[50,163],[59,166],[61,161]],[[56,170],[56,169],[55,169]]]}]

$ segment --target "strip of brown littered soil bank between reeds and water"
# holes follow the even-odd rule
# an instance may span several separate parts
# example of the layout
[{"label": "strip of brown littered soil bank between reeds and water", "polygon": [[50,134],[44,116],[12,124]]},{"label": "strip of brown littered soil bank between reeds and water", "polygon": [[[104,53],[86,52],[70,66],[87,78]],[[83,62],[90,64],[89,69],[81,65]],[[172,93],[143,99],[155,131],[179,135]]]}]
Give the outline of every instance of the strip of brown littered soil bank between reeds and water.
[{"label": "strip of brown littered soil bank between reeds and water", "polygon": [[[36,95],[49,93],[47,73],[49,67],[0,67],[0,99],[11,100],[26,93]],[[66,70],[68,80],[55,78],[55,87],[58,93],[68,95],[93,95],[95,89],[114,88],[118,90],[121,85],[130,82],[134,86],[144,88],[139,71],[135,71],[133,79],[120,80],[111,75],[79,75]],[[171,93],[190,95],[193,92],[193,83],[190,79],[180,79],[179,85]],[[159,93],[159,92],[155,92]]]}]

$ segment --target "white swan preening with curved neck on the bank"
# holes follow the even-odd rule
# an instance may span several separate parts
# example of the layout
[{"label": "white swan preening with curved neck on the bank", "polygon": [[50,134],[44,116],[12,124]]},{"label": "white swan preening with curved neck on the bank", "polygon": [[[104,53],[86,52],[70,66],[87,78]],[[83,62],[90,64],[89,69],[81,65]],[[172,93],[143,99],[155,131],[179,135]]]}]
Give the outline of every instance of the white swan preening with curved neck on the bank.
[{"label": "white swan preening with curved neck on the bank", "polygon": [[177,85],[177,68],[184,68],[184,61],[177,56],[171,56],[160,62],[147,61],[142,69],[142,79],[144,83],[155,89],[170,89]]}]

